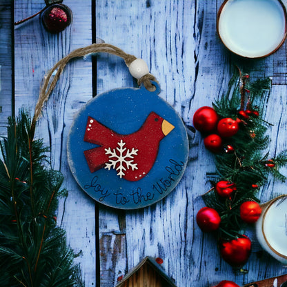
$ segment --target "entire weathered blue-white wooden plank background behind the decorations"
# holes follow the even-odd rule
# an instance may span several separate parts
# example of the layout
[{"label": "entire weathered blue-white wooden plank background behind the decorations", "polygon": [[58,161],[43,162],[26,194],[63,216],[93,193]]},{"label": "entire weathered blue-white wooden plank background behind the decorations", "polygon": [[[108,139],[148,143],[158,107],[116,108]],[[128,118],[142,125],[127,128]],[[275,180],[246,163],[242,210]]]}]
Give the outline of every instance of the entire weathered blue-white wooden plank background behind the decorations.
[{"label": "entire weathered blue-white wooden plank background behind the decorations", "polygon": [[[8,6],[1,4],[0,32],[6,27],[6,34],[1,34],[0,65],[7,63],[10,71],[14,71],[12,78],[12,72],[6,69],[3,72],[1,68],[1,87],[14,82],[14,88],[12,92],[9,88],[0,91],[0,106],[8,110],[0,112],[0,126],[13,101],[16,113],[22,106],[34,107],[45,72],[59,59],[98,37],[145,59],[161,85],[160,96],[179,112],[188,126],[192,126],[197,108],[210,106],[213,99],[221,97],[234,64],[250,72],[251,79],[273,77],[273,90],[264,99],[266,121],[274,124],[270,129],[270,156],[287,148],[286,43],[266,59],[247,61],[230,54],[215,30],[222,0],[64,0],[64,3],[71,8],[73,21],[58,35],[46,32],[39,17],[17,26],[9,34],[5,15],[13,3],[8,0]],[[284,4],[287,5],[286,0]],[[43,6],[42,0],[14,1],[14,19],[28,17]],[[13,43],[11,37],[14,65],[12,60],[6,62]],[[63,187],[69,190],[69,196],[61,202],[57,220],[67,230],[72,248],[81,251],[77,261],[86,286],[115,286],[120,275],[147,255],[164,259],[164,270],[181,287],[213,286],[223,279],[243,285],[286,273],[283,266],[261,250],[252,228],[248,234],[253,239],[253,253],[244,266],[248,273],[235,274],[220,259],[212,235],[203,234],[197,227],[195,217],[204,206],[199,195],[210,188],[208,180],[215,172],[212,155],[204,148],[198,132],[190,132],[190,160],[183,179],[158,204],[127,212],[112,210],[95,204],[80,190],[66,156],[67,135],[75,114],[92,97],[92,90],[99,93],[135,86],[128,69],[117,57],[98,55],[93,67],[91,57],[68,65],[37,128],[37,135],[51,147],[52,167],[61,170],[66,178]],[[92,81],[95,77],[97,81]],[[285,187],[268,181],[261,190],[261,200],[286,193]]]}]

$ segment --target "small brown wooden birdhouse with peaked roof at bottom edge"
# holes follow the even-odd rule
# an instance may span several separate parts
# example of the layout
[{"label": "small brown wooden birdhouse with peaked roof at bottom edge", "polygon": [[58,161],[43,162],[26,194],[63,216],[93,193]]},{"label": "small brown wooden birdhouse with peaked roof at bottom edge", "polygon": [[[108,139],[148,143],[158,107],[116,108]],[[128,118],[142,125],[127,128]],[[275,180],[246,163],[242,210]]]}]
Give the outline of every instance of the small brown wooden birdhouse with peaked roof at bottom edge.
[{"label": "small brown wooden birdhouse with peaked roof at bottom edge", "polygon": [[146,257],[116,287],[177,287],[152,257]]}]

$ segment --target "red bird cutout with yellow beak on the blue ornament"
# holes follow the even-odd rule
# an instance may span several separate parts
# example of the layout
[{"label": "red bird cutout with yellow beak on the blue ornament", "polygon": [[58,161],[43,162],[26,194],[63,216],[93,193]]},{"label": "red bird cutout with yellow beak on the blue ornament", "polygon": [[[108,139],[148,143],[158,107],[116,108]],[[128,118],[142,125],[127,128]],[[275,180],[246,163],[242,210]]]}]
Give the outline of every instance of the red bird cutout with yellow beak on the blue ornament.
[{"label": "red bird cutout with yellow beak on the blue ornament", "polygon": [[120,178],[128,181],[142,179],[155,164],[159,142],[174,128],[155,112],[150,112],[139,130],[130,135],[119,135],[88,117],[83,140],[99,145],[83,152],[90,172],[113,168]]}]

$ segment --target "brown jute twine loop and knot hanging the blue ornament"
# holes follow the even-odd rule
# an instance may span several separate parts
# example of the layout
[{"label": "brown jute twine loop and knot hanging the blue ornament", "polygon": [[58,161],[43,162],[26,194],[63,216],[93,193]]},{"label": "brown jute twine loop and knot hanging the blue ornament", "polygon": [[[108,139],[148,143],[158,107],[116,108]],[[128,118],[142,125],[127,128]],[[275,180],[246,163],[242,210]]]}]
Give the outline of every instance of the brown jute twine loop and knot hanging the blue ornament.
[{"label": "brown jute twine loop and knot hanging the blue ornament", "polygon": [[[132,61],[137,60],[137,57],[126,54],[126,52],[123,52],[123,50],[117,48],[116,46],[112,46],[108,43],[94,43],[90,46],[76,49],[70,52],[70,54],[67,55],[66,57],[63,57],[63,59],[58,61],[55,64],[55,66],[44,77],[43,85],[41,86],[40,92],[39,92],[39,99],[34,109],[34,117],[31,123],[31,137],[32,138],[34,137],[34,129],[36,127],[37,120],[41,116],[43,105],[48,100],[52,90],[55,88],[56,83],[59,80],[59,77],[61,76],[61,73],[63,72],[68,61],[70,61],[71,59],[77,58],[77,57],[83,57],[85,55],[92,54],[92,53],[98,53],[98,52],[106,52],[108,54],[119,56],[125,61],[126,66],[128,67],[130,66]],[[55,76],[52,78],[54,74]],[[141,77],[140,79],[138,79],[137,83],[139,86],[143,84],[147,90],[154,90],[155,86],[152,85],[152,81],[157,82],[155,77],[151,75],[150,73],[148,73],[146,75],[143,75],[143,77]]]}]

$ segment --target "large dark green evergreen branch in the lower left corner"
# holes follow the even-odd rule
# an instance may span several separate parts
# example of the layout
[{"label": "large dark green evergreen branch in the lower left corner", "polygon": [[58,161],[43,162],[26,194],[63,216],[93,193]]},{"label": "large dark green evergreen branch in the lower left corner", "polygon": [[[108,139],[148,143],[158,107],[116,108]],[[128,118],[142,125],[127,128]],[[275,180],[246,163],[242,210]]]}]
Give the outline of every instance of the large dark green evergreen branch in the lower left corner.
[{"label": "large dark green evergreen branch in the lower left corner", "polygon": [[21,111],[0,144],[0,286],[83,286],[55,217],[58,199],[67,196],[63,175],[46,168],[48,149],[33,135]]}]

